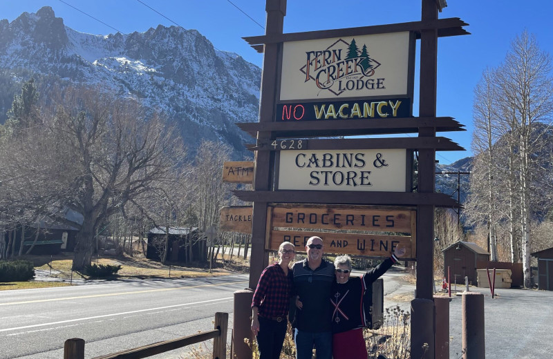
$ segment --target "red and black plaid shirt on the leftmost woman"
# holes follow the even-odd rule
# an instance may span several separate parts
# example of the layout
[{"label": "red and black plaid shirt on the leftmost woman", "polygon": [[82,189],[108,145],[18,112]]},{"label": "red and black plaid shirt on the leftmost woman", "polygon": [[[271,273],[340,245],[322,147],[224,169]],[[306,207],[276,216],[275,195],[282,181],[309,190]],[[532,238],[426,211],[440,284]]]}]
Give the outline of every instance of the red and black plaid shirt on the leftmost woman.
[{"label": "red and black plaid shirt on the leftmost woman", "polygon": [[292,285],[292,271],[285,275],[278,263],[268,266],[257,283],[252,307],[257,307],[257,313],[263,318],[287,316]]}]

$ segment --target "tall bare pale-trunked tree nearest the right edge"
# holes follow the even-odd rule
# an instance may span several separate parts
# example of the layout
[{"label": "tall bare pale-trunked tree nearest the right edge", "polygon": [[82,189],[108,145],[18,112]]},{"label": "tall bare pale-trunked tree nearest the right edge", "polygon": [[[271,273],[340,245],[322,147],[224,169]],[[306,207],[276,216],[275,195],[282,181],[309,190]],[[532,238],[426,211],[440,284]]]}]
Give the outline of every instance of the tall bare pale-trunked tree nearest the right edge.
[{"label": "tall bare pale-trunked tree nearest the right edge", "polygon": [[[494,94],[495,99],[491,102],[494,112],[489,112],[493,115],[487,117],[486,111],[480,111],[475,113],[475,119],[478,121],[489,118],[491,122],[488,127],[503,129],[503,132],[501,139],[493,142],[487,137],[489,135],[487,127],[480,126],[480,139],[488,139],[488,142],[474,141],[475,151],[478,151],[477,163],[480,161],[484,165],[475,167],[473,179],[480,179],[485,184],[482,188],[485,188],[487,195],[482,199],[486,201],[493,199],[492,203],[498,203],[495,208],[496,213],[503,212],[503,218],[511,223],[512,260],[518,257],[515,244],[518,242],[525,287],[531,284],[531,224],[536,220],[540,204],[550,200],[550,193],[552,193],[550,175],[547,171],[550,157],[543,156],[544,153],[550,153],[551,148],[551,144],[546,140],[553,113],[551,73],[550,55],[540,50],[536,39],[525,31],[512,41],[505,62],[494,70],[494,77],[485,74],[481,84],[489,86],[485,87],[485,91],[477,89],[478,98],[475,99],[486,103],[487,95]],[[484,110],[486,107],[483,106]],[[499,142],[501,142],[501,149],[498,148]],[[485,146],[478,146],[482,144]],[[492,155],[494,157],[491,157]],[[492,181],[490,168],[493,168],[491,166],[494,163],[496,166],[493,172],[498,178]],[[476,171],[480,173],[476,174]],[[486,171],[490,174],[487,175]],[[494,182],[495,184],[492,185]],[[493,186],[500,188],[495,196]],[[473,187],[478,188],[476,185]],[[501,193],[503,196],[500,196]],[[475,191],[472,199],[476,200],[476,197]],[[503,201],[496,201],[500,197]],[[491,211],[492,203],[488,206],[488,211]],[[478,206],[472,208],[475,211],[478,210]],[[508,210],[503,211],[503,208]],[[521,233],[519,241],[514,237],[515,221],[518,222]],[[489,217],[488,223],[493,224],[493,222],[493,218]],[[490,227],[490,234],[492,227]]]}]

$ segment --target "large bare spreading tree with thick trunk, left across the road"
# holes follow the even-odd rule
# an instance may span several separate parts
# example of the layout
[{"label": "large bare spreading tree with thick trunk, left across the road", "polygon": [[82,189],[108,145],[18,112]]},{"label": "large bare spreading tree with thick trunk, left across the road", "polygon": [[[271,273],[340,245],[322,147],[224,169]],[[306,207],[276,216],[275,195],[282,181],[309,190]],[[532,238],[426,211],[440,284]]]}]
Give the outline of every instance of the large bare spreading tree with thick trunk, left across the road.
[{"label": "large bare spreading tree with thick trunk, left across the road", "polygon": [[98,226],[167,180],[184,150],[158,114],[132,99],[86,88],[54,93],[37,126],[0,144],[4,159],[15,154],[0,170],[7,182],[0,191],[12,211],[32,220],[66,206],[81,213],[73,269],[82,270],[91,264]]}]

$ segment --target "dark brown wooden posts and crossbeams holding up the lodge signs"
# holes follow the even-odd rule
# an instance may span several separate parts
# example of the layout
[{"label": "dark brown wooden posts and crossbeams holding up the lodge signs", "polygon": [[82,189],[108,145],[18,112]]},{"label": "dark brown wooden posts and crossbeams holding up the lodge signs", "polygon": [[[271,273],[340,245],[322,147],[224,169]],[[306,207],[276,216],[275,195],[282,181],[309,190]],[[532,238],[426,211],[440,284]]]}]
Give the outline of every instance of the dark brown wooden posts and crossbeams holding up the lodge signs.
[{"label": "dark brown wooden posts and crossbeams holding up the lodge signs", "polygon": [[[256,151],[256,166],[254,191],[234,192],[242,200],[250,198],[254,202],[254,222],[252,227],[252,256],[250,262],[250,287],[256,287],[261,272],[268,265],[268,251],[265,249],[265,239],[274,233],[268,225],[272,218],[270,202],[302,202],[320,204],[377,204],[379,206],[413,205],[416,206],[416,226],[413,235],[418,240],[415,253],[417,260],[417,283],[415,300],[411,302],[411,356],[420,358],[434,357],[435,322],[428,310],[428,304],[433,300],[433,238],[435,206],[459,206],[451,197],[443,193],[435,193],[435,152],[442,149],[442,142],[436,137],[437,130],[460,130],[461,126],[450,117],[436,117],[436,83],[438,68],[438,37],[469,35],[463,26],[468,24],[458,18],[438,19],[438,10],[442,10],[444,1],[421,0],[421,20],[408,23],[394,23],[381,26],[365,26],[361,28],[344,28],[314,32],[298,32],[283,34],[283,22],[286,13],[286,0],[267,0],[267,26],[265,35],[247,37],[245,40],[259,52],[264,52],[263,76],[261,77],[261,101],[259,108],[259,126],[248,128],[256,138],[256,145],[250,149]],[[306,41],[315,39],[332,39],[359,37],[362,35],[384,34],[390,32],[409,31],[410,37],[420,39],[420,83],[419,83],[419,116],[418,118],[402,119],[332,119],[312,122],[276,122],[275,108],[278,104],[297,104],[298,99],[280,101],[281,79],[283,69],[283,48],[286,42]],[[347,42],[346,41],[346,42]],[[414,43],[415,41],[413,41]],[[350,48],[353,41],[350,42]],[[328,50],[319,48],[308,51]],[[413,99],[414,56],[415,46],[409,49],[409,98]],[[358,57],[364,54],[357,53]],[[348,56],[350,59],[355,58]],[[295,61],[295,60],[294,60]],[[321,62],[324,63],[323,60]],[[360,65],[360,63],[359,63]],[[365,66],[363,66],[365,67]],[[330,72],[328,72],[330,73]],[[365,73],[365,72],[364,72]],[[382,94],[384,95],[384,93]],[[309,95],[311,96],[311,95]],[[315,97],[318,95],[316,94]],[[301,97],[301,96],[300,96]],[[343,101],[353,100],[344,98]],[[368,96],[366,99],[373,97]],[[374,97],[377,99],[377,97]],[[318,101],[317,98],[307,99]],[[301,101],[303,102],[303,101]],[[341,105],[340,105],[341,106]],[[343,113],[345,113],[343,111]],[[282,113],[278,114],[280,117]],[[403,129],[403,130],[402,130]],[[402,142],[404,148],[418,151],[418,180],[416,192],[405,193],[339,193],[331,191],[274,191],[274,168],[277,151],[270,151],[268,143],[279,138],[346,136],[355,133],[364,135],[380,133],[418,133],[418,138],[411,144],[409,140]],[[375,142],[377,139],[371,139]],[[375,142],[376,143],[376,142]],[[315,146],[317,142],[310,142]],[[460,146],[448,144],[446,149],[461,150]],[[457,147],[457,148],[452,148]],[[324,148],[326,149],[326,148]],[[258,151],[259,150],[259,151]],[[269,151],[268,151],[269,150]],[[414,216],[413,216],[414,217]],[[277,230],[280,231],[280,230]],[[300,232],[301,233],[301,232]],[[326,233],[323,231],[322,233]],[[281,233],[282,234],[282,233]],[[357,233],[356,233],[357,234]],[[368,233],[371,234],[371,233]],[[370,237],[359,238],[371,240]],[[356,240],[357,242],[357,240]],[[413,241],[415,242],[415,241]],[[272,245],[271,245],[272,246]],[[432,305],[432,304],[431,304]]]}]

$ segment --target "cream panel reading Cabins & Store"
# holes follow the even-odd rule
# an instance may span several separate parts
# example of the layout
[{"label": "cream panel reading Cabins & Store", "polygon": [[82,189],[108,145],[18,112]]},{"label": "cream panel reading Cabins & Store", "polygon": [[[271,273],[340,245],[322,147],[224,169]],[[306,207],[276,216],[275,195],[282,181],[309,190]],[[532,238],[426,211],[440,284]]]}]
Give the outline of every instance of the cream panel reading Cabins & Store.
[{"label": "cream panel reading Cabins & Store", "polygon": [[406,149],[280,151],[279,190],[406,192]]}]

